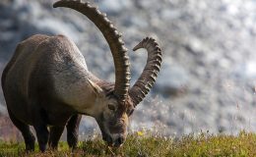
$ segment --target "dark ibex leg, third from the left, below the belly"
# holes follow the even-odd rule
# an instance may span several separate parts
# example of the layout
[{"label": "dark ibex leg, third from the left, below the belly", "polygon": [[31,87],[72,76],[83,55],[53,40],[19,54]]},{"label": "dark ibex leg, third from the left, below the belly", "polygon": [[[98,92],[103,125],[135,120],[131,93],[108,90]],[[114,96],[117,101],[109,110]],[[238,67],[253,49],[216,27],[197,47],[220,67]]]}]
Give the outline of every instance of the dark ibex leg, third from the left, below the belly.
[{"label": "dark ibex leg, third from the left, below the belly", "polygon": [[50,137],[48,141],[48,145],[52,149],[58,148],[58,142],[60,139],[60,136],[63,132],[65,127],[51,127],[50,128]]}]

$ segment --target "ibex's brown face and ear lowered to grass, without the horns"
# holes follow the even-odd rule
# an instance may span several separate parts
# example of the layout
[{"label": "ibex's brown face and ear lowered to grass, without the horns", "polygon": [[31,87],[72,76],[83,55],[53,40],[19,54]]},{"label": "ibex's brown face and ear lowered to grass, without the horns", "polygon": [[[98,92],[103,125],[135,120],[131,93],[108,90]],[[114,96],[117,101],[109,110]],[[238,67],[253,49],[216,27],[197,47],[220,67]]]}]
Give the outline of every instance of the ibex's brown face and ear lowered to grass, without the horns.
[{"label": "ibex's brown face and ear lowered to grass, without the horns", "polygon": [[125,101],[121,101],[114,93],[113,85],[101,89],[94,82],[91,83],[97,94],[98,108],[94,111],[94,117],[102,138],[109,145],[120,146],[127,135],[128,117],[134,111],[134,103],[129,95]]}]

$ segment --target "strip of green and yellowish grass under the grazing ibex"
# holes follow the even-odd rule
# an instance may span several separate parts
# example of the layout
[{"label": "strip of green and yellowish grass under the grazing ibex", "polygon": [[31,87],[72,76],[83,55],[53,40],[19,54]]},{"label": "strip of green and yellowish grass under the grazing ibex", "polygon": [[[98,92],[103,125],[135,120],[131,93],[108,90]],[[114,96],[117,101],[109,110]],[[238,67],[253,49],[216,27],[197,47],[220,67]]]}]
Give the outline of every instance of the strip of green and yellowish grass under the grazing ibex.
[{"label": "strip of green and yellowish grass under the grazing ibex", "polygon": [[[140,134],[140,133],[139,133]],[[1,156],[256,156],[256,134],[241,131],[238,135],[190,134],[172,139],[151,133],[130,134],[119,149],[110,149],[98,137],[79,143],[71,152],[66,142],[60,142],[58,151],[26,154],[24,143],[0,142]]]}]

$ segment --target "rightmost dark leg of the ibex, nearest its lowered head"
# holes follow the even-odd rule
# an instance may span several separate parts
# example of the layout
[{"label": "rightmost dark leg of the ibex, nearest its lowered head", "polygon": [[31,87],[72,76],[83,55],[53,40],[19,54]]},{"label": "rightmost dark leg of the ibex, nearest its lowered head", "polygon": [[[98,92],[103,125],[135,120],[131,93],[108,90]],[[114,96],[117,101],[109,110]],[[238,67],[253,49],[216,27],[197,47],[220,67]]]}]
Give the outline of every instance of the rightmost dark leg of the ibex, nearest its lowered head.
[{"label": "rightmost dark leg of the ibex, nearest its lowered head", "polygon": [[69,147],[72,149],[76,149],[78,145],[78,133],[81,118],[82,115],[74,115],[67,124],[67,140]]}]

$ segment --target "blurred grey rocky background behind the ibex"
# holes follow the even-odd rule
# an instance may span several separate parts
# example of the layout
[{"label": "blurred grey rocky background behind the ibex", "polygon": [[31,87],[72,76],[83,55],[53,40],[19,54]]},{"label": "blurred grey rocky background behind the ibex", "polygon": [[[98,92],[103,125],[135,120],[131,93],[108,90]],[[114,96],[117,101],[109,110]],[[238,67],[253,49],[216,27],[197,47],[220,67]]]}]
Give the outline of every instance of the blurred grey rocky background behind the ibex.
[{"label": "blurred grey rocky background behind the ibex", "polygon": [[[98,78],[114,80],[102,34],[54,0],[0,1],[0,75],[16,45],[36,33],[65,34],[75,41]],[[132,83],[147,54],[132,48],[146,36],[160,43],[163,63],[151,93],[131,117],[130,130],[164,135],[256,131],[255,0],[91,0],[107,14],[129,49]],[[98,132],[84,117],[81,137]],[[0,90],[0,139],[20,138]]]}]

